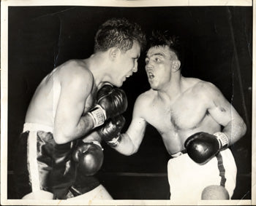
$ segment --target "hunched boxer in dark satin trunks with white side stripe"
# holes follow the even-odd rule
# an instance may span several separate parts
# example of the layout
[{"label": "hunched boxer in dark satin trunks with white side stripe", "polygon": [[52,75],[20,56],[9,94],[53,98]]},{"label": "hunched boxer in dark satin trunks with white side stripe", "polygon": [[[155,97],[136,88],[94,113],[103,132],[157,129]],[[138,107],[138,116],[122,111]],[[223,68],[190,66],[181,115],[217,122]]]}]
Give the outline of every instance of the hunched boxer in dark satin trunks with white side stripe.
[{"label": "hunched boxer in dark satin trunks with white side stripe", "polygon": [[65,199],[84,194],[83,199],[111,199],[91,178],[103,158],[95,130],[124,112],[127,99],[122,90],[102,86],[108,82],[121,87],[138,70],[145,41],[136,23],[107,20],[97,31],[93,55],[69,60],[45,76],[31,99],[17,146],[15,188],[20,198]]}]

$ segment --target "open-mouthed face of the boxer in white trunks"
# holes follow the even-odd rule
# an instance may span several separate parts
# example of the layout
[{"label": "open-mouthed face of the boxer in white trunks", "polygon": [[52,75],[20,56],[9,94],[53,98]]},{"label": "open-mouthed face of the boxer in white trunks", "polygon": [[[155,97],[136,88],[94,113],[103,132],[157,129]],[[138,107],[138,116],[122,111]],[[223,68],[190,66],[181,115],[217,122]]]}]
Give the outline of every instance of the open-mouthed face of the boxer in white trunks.
[{"label": "open-mouthed face of the boxer in white trunks", "polygon": [[160,90],[170,82],[173,55],[175,53],[170,51],[167,46],[148,49],[145,60],[146,73],[148,82],[153,90]]}]

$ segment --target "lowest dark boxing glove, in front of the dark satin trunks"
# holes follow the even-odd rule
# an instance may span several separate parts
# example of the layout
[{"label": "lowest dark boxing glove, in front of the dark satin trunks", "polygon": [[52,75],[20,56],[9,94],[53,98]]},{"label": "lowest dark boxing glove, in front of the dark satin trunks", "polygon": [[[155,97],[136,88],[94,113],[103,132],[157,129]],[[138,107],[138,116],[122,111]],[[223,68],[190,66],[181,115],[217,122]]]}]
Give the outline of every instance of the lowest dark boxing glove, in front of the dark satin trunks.
[{"label": "lowest dark boxing glove, in front of the dark satin trunks", "polygon": [[102,146],[97,141],[83,143],[75,149],[72,157],[78,163],[80,173],[88,176],[94,175],[102,167]]}]

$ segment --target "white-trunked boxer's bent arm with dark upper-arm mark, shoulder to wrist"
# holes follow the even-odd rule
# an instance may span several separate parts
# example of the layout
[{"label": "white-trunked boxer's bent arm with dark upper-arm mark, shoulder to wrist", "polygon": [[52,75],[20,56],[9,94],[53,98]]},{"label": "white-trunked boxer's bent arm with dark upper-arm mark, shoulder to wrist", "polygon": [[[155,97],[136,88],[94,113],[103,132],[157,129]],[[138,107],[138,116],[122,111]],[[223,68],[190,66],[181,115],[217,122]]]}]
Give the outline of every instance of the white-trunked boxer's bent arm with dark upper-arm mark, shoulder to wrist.
[{"label": "white-trunked boxer's bent arm with dark upper-arm mark, shoulder to wrist", "polygon": [[209,114],[224,127],[222,132],[227,135],[228,145],[236,143],[246,132],[244,120],[214,84],[207,84],[205,89]]}]

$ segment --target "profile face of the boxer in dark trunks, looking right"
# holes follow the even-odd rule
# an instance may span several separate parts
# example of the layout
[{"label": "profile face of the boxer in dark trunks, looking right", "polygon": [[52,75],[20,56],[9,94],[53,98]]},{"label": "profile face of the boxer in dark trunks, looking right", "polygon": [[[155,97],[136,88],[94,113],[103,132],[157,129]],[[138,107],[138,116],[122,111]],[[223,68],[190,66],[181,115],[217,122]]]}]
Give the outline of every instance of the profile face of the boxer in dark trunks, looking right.
[{"label": "profile face of the boxer in dark trunks, looking right", "polygon": [[113,74],[113,82],[121,87],[123,82],[138,71],[138,58],[140,57],[140,45],[133,42],[132,48],[127,52],[120,52],[116,60],[116,72]]}]

